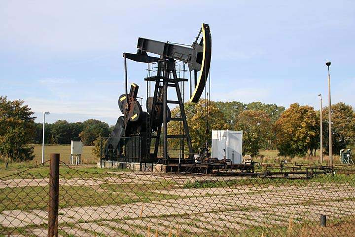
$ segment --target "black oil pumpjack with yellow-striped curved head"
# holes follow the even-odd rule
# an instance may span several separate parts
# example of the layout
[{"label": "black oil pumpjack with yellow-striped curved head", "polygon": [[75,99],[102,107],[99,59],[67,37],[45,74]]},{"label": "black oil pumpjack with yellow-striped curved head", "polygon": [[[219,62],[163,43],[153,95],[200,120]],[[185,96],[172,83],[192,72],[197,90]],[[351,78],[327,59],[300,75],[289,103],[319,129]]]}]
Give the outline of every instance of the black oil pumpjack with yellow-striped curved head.
[{"label": "black oil pumpjack with yellow-striped curved head", "polygon": [[[180,139],[187,145],[188,155],[182,160],[194,160],[191,137],[186,121],[183,99],[179,82],[188,81],[178,78],[176,63],[188,65],[190,75],[190,102],[199,101],[210,72],[212,40],[210,27],[202,24],[196,40],[190,45],[161,42],[144,38],[138,39],[137,53],[123,53],[125,65],[125,93],[119,96],[118,106],[123,116],[117,119],[116,125],[105,145],[105,159],[126,162],[155,162],[177,163],[178,158],[168,154],[168,139]],[[147,53],[159,55],[148,56]],[[156,75],[144,78],[145,81],[155,82],[154,94],[146,100],[147,112],[142,111],[142,106],[137,100],[139,86],[131,84],[127,88],[127,59],[156,65]],[[193,76],[192,76],[193,75]],[[193,92],[192,80],[194,82]],[[168,99],[168,87],[175,88],[177,100]],[[168,104],[179,107],[179,117],[172,118]],[[181,134],[168,134],[168,122],[180,121]],[[163,131],[162,131],[163,130]],[[161,136],[163,133],[163,136]],[[163,152],[158,154],[160,143],[163,143]],[[183,154],[183,147],[180,154]],[[161,157],[159,157],[161,156]]]}]

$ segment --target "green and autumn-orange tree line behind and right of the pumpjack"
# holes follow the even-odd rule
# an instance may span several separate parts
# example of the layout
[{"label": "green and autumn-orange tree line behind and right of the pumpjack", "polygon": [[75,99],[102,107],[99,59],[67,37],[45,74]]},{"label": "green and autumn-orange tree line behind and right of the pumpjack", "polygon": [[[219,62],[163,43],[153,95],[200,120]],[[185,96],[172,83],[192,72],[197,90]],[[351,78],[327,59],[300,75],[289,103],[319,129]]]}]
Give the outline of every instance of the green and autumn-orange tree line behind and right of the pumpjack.
[{"label": "green and autumn-orange tree line behind and right of the pumpjack", "polygon": [[[327,154],[328,108],[323,109],[323,152]],[[355,112],[339,102],[332,105],[332,148],[334,154],[355,145]],[[308,105],[291,104],[288,109],[275,104],[252,102],[213,102],[200,100],[185,103],[194,151],[211,144],[212,130],[243,130],[243,155],[258,156],[260,150],[275,149],[280,156],[316,155],[320,149],[320,111]],[[179,116],[179,109],[172,111]],[[169,123],[170,133],[178,134],[179,122]],[[175,144],[177,145],[177,144]]]}]

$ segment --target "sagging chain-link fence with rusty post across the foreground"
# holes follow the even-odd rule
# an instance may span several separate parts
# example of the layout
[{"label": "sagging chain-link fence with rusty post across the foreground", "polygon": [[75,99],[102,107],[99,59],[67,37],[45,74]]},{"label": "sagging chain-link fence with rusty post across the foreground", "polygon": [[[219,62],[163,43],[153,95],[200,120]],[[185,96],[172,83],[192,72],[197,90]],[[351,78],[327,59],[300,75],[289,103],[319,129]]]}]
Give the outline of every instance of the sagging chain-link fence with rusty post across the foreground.
[{"label": "sagging chain-link fence with rusty post across the foreground", "polygon": [[52,161],[0,178],[1,237],[355,236],[353,166],[240,176]]}]

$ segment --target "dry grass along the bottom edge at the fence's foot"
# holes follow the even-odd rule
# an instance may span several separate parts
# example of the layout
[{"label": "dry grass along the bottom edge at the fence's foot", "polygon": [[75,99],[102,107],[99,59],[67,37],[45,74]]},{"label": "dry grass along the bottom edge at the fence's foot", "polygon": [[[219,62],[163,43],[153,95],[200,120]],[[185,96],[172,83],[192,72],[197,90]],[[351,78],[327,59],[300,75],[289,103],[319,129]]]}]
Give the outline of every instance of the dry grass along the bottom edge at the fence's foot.
[{"label": "dry grass along the bottom edge at the fence's foot", "polygon": [[[171,216],[173,217],[173,215]],[[179,216],[180,217],[180,216]],[[221,219],[223,220],[223,219]],[[125,223],[121,219],[112,219],[110,221],[116,222],[118,224]],[[82,221],[78,221],[77,223],[84,223]],[[334,237],[334,236],[352,236],[351,233],[354,233],[355,226],[354,226],[354,217],[348,218],[341,218],[339,220],[334,221],[327,221],[326,227],[320,227],[319,222],[310,222],[310,221],[301,221],[301,222],[294,222],[294,220],[290,220],[287,226],[277,226],[277,225],[270,225],[268,227],[264,226],[247,226],[244,223],[238,223],[245,229],[236,230],[234,228],[225,227],[222,230],[210,230],[199,225],[196,223],[201,223],[201,220],[195,218],[192,221],[185,221],[183,224],[189,225],[191,227],[197,227],[200,229],[204,229],[206,232],[203,233],[206,237],[219,237],[219,236],[240,236],[240,237],[308,237],[308,236],[322,236],[322,237]],[[206,226],[213,225],[214,223],[206,223]],[[59,228],[59,234],[64,237],[74,237],[74,235],[67,234],[65,231],[62,230],[63,227],[70,227],[75,228],[73,223],[61,223]],[[132,237],[143,237],[144,235],[138,235],[133,232],[134,228],[142,229],[141,226],[133,224],[131,230],[124,230],[116,226],[102,224],[101,226],[105,226],[108,229],[116,230],[118,232],[124,233],[127,236]],[[163,225],[165,228],[169,229],[172,228],[173,230],[173,237],[175,235],[178,226],[170,226],[170,225]],[[40,226],[43,229],[47,228],[46,224],[42,224]],[[35,226],[32,228],[36,228]],[[77,227],[76,227],[77,228]],[[35,235],[31,235],[28,228],[3,228],[0,226],[0,237],[5,237],[7,235],[1,233],[11,232],[12,234],[22,234],[24,236],[33,237]],[[106,237],[107,235],[99,232],[94,231],[87,231],[87,233],[92,234],[92,236],[97,237]],[[150,236],[154,236],[155,233],[155,226],[153,225],[150,228]],[[167,236],[167,233],[163,233],[158,230],[159,236]],[[350,235],[349,235],[350,234]],[[180,237],[199,237],[200,234],[192,233],[188,229],[180,229],[179,228],[179,235]]]}]

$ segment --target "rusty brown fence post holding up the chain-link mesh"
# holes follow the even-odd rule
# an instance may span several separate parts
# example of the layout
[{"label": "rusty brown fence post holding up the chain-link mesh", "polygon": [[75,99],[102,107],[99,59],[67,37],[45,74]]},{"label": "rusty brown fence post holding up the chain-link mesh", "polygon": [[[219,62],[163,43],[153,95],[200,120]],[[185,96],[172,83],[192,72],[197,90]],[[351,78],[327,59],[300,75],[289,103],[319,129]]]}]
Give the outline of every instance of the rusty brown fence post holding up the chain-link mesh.
[{"label": "rusty brown fence post holding up the chain-link mesh", "polygon": [[48,237],[58,236],[59,157],[60,154],[50,154]]}]

